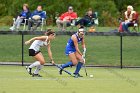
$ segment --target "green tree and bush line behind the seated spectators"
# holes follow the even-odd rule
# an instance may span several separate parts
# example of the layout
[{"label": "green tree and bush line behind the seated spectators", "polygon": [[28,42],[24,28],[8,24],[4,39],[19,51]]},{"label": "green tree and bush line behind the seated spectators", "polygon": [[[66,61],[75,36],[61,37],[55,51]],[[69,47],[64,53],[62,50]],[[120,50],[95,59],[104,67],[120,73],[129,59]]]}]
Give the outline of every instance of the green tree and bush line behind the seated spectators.
[{"label": "green tree and bush line behind the seated spectators", "polygon": [[70,5],[79,17],[89,7],[97,11],[100,26],[117,26],[117,19],[126,11],[127,5],[132,5],[140,12],[140,0],[0,0],[0,25],[12,24],[12,18],[20,13],[24,3],[29,4],[30,11],[35,10],[37,5],[42,5],[47,12],[48,25],[54,25],[55,16],[67,11]]}]

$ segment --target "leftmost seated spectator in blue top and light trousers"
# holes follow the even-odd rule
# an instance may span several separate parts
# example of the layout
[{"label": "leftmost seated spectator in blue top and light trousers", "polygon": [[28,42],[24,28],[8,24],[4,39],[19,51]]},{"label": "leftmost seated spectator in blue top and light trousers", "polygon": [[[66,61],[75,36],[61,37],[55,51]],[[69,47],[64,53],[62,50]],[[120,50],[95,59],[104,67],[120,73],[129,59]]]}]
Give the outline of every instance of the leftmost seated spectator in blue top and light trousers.
[{"label": "leftmost seated spectator in blue top and light trousers", "polygon": [[28,19],[30,17],[30,11],[28,4],[23,4],[23,10],[18,15],[17,19],[15,20],[12,27],[10,27],[10,30],[15,30],[20,28],[20,24],[23,22],[24,19]]}]

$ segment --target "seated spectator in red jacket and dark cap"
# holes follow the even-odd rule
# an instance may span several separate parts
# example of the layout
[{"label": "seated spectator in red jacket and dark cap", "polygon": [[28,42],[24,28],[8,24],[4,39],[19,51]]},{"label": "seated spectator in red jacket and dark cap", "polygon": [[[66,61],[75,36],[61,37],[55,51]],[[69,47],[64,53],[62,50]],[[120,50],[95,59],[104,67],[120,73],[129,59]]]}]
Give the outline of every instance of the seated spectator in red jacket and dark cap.
[{"label": "seated spectator in red jacket and dark cap", "polygon": [[56,20],[56,24],[59,30],[65,31],[68,24],[71,24],[72,20],[77,18],[77,13],[73,11],[73,7],[68,7],[68,12],[62,13]]}]

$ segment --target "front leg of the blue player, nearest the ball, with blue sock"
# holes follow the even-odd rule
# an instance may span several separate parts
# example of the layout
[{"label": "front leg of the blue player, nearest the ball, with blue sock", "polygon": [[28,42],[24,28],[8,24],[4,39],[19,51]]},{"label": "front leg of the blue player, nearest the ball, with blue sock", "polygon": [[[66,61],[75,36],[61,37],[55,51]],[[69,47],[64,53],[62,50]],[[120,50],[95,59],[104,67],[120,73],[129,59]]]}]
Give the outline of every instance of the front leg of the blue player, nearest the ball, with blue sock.
[{"label": "front leg of the blue player, nearest the ball, with blue sock", "polygon": [[79,53],[75,52],[75,55],[76,55],[77,60],[79,61],[78,64],[77,64],[77,66],[76,66],[76,70],[75,70],[75,72],[74,72],[75,77],[77,78],[77,77],[82,77],[82,76],[79,74],[79,72],[80,72],[81,67],[82,67],[83,64],[84,64],[84,60],[82,59],[82,56],[81,56]]}]

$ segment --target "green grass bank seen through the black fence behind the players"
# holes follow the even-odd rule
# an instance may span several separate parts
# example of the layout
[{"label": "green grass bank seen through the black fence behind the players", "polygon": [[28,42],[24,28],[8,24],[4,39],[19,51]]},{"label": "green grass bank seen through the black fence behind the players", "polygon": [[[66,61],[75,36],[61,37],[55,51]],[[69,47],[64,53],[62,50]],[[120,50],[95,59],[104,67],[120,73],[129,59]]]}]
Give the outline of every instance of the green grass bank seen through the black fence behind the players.
[{"label": "green grass bank seen through the black fence behind the players", "polygon": [[[28,40],[35,35],[26,35]],[[68,57],[65,56],[65,46],[70,36],[56,36],[52,41],[52,53],[56,63],[65,63]],[[0,61],[21,62],[21,36],[20,35],[0,35]],[[118,36],[86,36],[87,64],[92,65],[120,65],[120,38]],[[123,65],[140,66],[140,38],[123,37]],[[24,61],[33,62],[28,56],[28,46],[24,46]],[[48,61],[46,48],[41,51]]]}]

